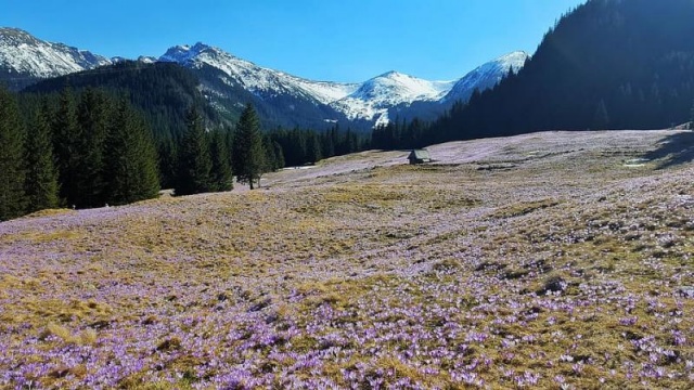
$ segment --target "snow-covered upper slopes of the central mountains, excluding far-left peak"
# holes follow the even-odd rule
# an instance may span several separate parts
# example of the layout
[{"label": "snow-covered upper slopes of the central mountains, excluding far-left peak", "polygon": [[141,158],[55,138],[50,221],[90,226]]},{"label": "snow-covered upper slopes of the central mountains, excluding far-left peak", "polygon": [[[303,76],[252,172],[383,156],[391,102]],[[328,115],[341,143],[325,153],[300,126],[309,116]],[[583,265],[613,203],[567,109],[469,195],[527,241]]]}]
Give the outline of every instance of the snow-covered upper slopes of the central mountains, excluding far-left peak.
[{"label": "snow-covered upper slopes of the central mountains, excluding far-left peak", "polygon": [[[519,69],[528,55],[515,52],[497,58],[452,81],[429,81],[398,72],[388,72],[362,83],[312,81],[283,72],[258,66],[223,50],[204,43],[170,48],[159,61],[200,68],[203,64],[223,72],[227,84],[239,84],[260,98],[288,94],[331,106],[350,120],[387,123],[388,110],[414,102],[447,103],[466,100],[477,88],[491,88]],[[325,118],[332,119],[332,118]]]}]

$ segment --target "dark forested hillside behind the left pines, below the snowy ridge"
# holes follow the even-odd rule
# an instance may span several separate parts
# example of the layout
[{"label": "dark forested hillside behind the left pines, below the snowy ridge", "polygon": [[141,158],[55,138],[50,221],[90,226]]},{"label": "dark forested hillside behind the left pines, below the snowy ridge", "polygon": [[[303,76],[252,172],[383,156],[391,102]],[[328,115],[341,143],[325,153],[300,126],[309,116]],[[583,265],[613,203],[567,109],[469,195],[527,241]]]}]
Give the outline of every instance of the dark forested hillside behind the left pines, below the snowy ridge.
[{"label": "dark forested hillside behind the left pines, below the snowy ridge", "polygon": [[[227,134],[236,126],[244,106],[254,103],[260,128],[268,138],[265,141],[268,159],[273,161],[271,166],[274,169],[317,162],[322,158],[357,152],[369,146],[368,136],[362,132],[352,131],[350,128],[340,130],[338,125],[320,131],[298,126],[291,127],[293,130],[278,127],[277,123],[283,120],[275,117],[277,113],[271,106],[258,104],[252,93],[242,88],[209,84],[222,82],[220,78],[214,77],[219,72],[210,66],[189,69],[175,63],[121,62],[39,82],[25,89],[22,100],[35,101],[37,95],[59,93],[65,87],[74,91],[99,88],[113,94],[128,96],[143,113],[153,130],[162,159],[164,186],[174,185],[177,148],[188,128],[188,110],[193,106],[197,109],[204,129]],[[197,75],[206,76],[198,79]],[[228,94],[205,98],[200,92],[201,86],[205,90],[226,89]],[[299,112],[295,114],[297,118],[300,116]],[[324,127],[325,125],[321,126],[321,129]],[[231,136],[222,138],[228,140],[228,147],[231,148]]]}]

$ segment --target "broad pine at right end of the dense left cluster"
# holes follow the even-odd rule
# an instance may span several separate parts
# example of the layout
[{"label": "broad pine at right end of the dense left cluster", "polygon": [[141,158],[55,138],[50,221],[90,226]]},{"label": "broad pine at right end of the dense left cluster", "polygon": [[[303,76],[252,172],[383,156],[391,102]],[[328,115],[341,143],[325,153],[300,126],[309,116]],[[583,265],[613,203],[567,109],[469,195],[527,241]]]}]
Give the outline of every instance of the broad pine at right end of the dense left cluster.
[{"label": "broad pine at right end of the dense left cluster", "polygon": [[159,191],[157,156],[144,121],[121,99],[105,140],[106,202],[116,205],[153,198]]}]

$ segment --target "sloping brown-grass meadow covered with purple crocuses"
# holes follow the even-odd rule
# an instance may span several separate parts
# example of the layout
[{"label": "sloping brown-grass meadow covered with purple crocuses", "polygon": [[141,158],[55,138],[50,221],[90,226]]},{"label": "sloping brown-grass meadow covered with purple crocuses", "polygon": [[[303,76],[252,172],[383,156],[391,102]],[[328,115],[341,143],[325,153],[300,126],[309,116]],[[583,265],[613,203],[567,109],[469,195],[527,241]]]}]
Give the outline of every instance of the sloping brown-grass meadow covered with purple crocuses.
[{"label": "sloping brown-grass meadow covered with purple crocuses", "polygon": [[0,223],[0,389],[689,389],[694,133],[367,152]]}]

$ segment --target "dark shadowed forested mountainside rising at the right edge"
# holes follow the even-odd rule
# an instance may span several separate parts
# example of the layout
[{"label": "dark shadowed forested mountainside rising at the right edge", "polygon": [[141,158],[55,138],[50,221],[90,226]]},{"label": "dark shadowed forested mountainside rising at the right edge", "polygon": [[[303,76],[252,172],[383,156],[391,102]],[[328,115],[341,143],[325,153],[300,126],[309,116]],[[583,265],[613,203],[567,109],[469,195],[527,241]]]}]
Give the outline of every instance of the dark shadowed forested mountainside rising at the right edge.
[{"label": "dark shadowed forested mountainside rising at the right edge", "polygon": [[691,0],[588,1],[517,75],[439,120],[432,140],[682,123],[694,102],[692,37]]}]

